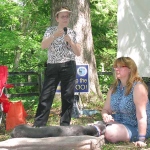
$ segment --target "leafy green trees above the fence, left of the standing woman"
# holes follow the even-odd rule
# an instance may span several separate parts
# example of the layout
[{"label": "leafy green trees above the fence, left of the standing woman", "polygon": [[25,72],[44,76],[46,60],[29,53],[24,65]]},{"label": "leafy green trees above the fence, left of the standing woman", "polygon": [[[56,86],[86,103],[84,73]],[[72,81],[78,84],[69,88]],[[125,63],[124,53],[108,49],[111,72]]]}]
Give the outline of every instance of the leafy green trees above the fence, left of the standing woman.
[{"label": "leafy green trees above the fence, left of the standing woman", "polygon": [[0,64],[10,71],[38,71],[46,61],[41,40],[49,26],[49,1],[5,0],[0,5]]}]

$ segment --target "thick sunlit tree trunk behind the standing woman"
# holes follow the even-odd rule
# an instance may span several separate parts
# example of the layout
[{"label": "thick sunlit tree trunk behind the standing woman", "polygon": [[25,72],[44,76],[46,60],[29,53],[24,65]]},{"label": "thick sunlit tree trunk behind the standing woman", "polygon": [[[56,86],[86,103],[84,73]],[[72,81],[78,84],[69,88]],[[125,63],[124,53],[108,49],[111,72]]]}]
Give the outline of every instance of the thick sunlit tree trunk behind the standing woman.
[{"label": "thick sunlit tree trunk behind the standing woman", "polygon": [[89,87],[88,100],[102,99],[100,91],[96,60],[94,55],[93,37],[91,31],[89,0],[52,0],[51,25],[56,25],[55,8],[68,6],[71,11],[70,27],[75,30],[81,43],[82,53],[76,57],[77,64],[89,64]]}]

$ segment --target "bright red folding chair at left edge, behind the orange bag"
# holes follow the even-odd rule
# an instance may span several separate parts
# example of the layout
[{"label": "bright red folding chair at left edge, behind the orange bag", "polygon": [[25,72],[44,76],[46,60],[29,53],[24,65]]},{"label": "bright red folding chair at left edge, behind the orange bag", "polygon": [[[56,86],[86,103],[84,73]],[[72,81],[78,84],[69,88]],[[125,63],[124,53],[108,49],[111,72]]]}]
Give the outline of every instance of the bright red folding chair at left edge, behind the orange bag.
[{"label": "bright red folding chair at left edge, behind the orange bag", "polygon": [[4,114],[8,112],[10,106],[10,101],[7,98],[6,94],[4,93],[4,89],[13,87],[12,84],[7,84],[7,78],[8,78],[7,66],[0,66],[0,112],[1,112],[0,124],[2,122],[2,119],[4,118]]}]

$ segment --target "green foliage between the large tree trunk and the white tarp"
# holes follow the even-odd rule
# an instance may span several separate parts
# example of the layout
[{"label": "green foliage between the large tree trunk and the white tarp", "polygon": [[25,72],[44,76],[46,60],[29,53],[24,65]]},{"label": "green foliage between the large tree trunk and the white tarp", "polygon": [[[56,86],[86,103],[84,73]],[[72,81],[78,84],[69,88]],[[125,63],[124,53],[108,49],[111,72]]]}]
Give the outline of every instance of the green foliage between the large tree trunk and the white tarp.
[{"label": "green foliage between the large tree trunk and the white tarp", "polygon": [[[91,0],[91,23],[97,71],[112,71],[117,52],[117,0]],[[101,91],[107,92],[112,76],[101,75]]]}]

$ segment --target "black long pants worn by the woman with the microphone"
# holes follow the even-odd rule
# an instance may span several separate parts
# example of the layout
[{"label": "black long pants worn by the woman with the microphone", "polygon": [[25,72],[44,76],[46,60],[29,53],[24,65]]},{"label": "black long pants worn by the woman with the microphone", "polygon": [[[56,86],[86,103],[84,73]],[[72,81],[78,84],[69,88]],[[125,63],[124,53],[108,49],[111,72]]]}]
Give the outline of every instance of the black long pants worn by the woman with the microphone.
[{"label": "black long pants worn by the woman with the microphone", "polygon": [[50,114],[58,83],[61,81],[60,125],[70,125],[76,80],[76,63],[48,64],[45,71],[43,89],[40,96],[34,126],[45,126]]}]

